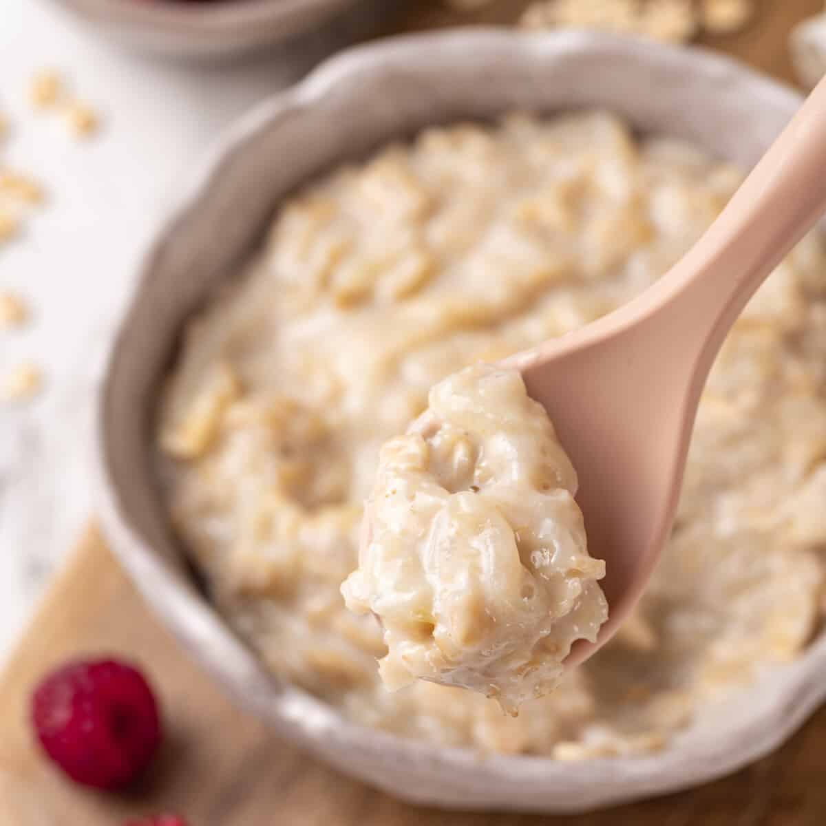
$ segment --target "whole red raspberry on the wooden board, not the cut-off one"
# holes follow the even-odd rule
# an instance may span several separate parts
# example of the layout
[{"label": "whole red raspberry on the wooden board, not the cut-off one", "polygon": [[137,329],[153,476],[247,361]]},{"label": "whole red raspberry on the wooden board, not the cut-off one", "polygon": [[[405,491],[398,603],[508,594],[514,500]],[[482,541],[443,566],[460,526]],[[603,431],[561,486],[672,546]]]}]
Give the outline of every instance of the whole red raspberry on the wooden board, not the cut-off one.
[{"label": "whole red raspberry on the wooden board, not the cut-off one", "polygon": [[43,748],[72,780],[127,786],[150,764],[161,727],[154,695],[134,667],[114,660],[69,662],[31,700]]}]

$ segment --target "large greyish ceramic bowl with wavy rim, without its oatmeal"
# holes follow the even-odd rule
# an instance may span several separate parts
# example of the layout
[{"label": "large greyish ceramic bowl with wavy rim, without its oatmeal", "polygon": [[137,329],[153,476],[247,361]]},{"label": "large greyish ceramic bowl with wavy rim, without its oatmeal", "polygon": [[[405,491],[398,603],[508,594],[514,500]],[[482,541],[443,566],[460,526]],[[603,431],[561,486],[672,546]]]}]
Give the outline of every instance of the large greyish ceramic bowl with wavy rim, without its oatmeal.
[{"label": "large greyish ceramic bowl with wavy rim, without its oatmeal", "polygon": [[199,596],[173,542],[151,463],[150,419],[178,333],[238,270],[279,198],[344,159],[427,124],[513,108],[605,107],[748,165],[800,98],[727,59],[584,33],[456,31],[352,50],[244,117],[185,189],[145,259],[102,387],[107,536],[188,651],[284,738],[406,800],[573,812],[724,775],[775,748],[826,694],[826,639],[707,710],[648,757],[554,762],[434,748],[364,729],[263,670]]}]

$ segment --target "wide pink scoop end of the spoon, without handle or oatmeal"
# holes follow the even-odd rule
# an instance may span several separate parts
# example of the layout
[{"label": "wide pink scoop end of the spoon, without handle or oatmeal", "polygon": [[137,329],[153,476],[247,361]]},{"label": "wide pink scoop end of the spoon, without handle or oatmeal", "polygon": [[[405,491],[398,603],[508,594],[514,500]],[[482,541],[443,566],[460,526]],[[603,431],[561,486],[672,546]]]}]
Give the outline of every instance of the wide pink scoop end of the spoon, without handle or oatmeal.
[{"label": "wide pink scoop end of the spoon, without handle or oatmeal", "polygon": [[676,352],[673,328],[657,330],[658,316],[619,329],[613,315],[602,321],[506,362],[577,468],[589,553],[605,560],[608,619],[596,643],[574,643],[568,667],[605,644],[643,594],[671,530],[700,395],[696,364]]}]

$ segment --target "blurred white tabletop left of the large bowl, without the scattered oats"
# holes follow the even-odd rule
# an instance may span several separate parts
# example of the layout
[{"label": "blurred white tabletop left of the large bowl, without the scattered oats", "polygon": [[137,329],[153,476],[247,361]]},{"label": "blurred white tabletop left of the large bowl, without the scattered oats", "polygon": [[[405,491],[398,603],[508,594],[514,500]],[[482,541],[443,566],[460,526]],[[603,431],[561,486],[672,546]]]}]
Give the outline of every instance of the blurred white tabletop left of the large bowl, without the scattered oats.
[{"label": "blurred white tabletop left of the large bowl, without the scattered oats", "polygon": [[[101,345],[176,179],[221,126],[373,25],[378,8],[264,58],[205,66],[124,53],[47,0],[2,0],[0,112],[13,131],[0,164],[34,173],[50,199],[0,248],[0,289],[34,311],[26,330],[0,333],[0,373],[31,358],[46,377],[35,402],[0,404],[0,663],[91,513]],[[97,138],[73,140],[31,111],[29,78],[46,66],[101,112]]]}]

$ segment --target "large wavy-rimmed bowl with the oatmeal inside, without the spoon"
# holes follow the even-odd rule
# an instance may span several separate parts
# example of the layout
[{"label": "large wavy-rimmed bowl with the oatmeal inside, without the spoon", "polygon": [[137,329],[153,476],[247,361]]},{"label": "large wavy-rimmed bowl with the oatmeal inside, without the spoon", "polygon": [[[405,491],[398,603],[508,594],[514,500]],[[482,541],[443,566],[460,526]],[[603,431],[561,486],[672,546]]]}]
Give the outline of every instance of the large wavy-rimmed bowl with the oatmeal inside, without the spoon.
[{"label": "large wavy-rimmed bowl with the oatmeal inside, without the spoon", "polygon": [[[145,259],[102,387],[99,455],[113,548],[240,704],[406,800],[548,813],[710,780],[795,730],[826,671],[817,234],[720,354],[638,611],[555,691],[516,717],[455,685],[388,691],[382,627],[340,589],[380,446],[430,388],[648,287],[799,103],[701,50],[461,31],[352,50],[230,130]],[[421,467],[464,489],[472,444],[442,430]],[[540,435],[548,496],[585,558],[570,471]],[[382,466],[399,476],[411,461]],[[581,585],[601,576],[587,559]],[[355,584],[364,607],[376,595]],[[516,601],[536,596],[523,584]]]}]

